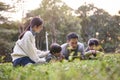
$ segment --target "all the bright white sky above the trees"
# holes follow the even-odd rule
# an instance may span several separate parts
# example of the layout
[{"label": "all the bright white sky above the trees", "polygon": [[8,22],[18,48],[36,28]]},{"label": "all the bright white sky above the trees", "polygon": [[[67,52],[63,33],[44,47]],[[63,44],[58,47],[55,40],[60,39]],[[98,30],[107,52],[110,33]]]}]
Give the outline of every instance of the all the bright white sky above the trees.
[{"label": "all the bright white sky above the trees", "polygon": [[[7,4],[14,5],[16,0],[1,0],[2,2],[5,2]],[[19,7],[17,7],[17,12],[11,15],[14,21],[21,21],[22,17],[25,17],[25,14],[33,9],[36,9],[39,7],[42,0],[24,0],[24,3],[21,4]],[[102,8],[105,11],[109,12],[111,15],[118,14],[118,11],[120,10],[119,0],[62,0],[65,2],[68,6],[70,6],[73,9],[77,9],[79,6],[83,5],[84,3],[89,4],[92,3],[98,8]]]}]

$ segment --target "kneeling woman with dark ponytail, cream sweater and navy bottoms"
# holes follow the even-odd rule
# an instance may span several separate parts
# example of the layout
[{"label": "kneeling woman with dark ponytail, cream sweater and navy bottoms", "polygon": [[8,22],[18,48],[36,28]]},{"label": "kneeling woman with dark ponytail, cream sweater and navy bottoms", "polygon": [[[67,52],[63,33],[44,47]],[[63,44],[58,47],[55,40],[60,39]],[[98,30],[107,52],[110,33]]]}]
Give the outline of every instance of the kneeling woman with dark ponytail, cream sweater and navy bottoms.
[{"label": "kneeling woman with dark ponytail, cream sweater and navy bottoms", "polygon": [[25,66],[27,64],[35,63],[45,63],[45,56],[49,52],[43,52],[36,48],[35,46],[35,36],[39,33],[43,26],[43,21],[35,17],[31,20],[28,28],[23,32],[13,49],[12,61],[13,66]]}]

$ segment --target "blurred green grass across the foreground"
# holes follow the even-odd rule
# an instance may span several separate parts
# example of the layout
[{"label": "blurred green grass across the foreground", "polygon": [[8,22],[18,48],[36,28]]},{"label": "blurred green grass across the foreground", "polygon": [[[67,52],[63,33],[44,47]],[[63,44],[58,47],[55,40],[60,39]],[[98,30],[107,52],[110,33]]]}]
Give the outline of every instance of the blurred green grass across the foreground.
[{"label": "blurred green grass across the foreground", "polygon": [[44,65],[12,67],[0,64],[0,80],[120,80],[120,54],[99,60],[75,60]]}]

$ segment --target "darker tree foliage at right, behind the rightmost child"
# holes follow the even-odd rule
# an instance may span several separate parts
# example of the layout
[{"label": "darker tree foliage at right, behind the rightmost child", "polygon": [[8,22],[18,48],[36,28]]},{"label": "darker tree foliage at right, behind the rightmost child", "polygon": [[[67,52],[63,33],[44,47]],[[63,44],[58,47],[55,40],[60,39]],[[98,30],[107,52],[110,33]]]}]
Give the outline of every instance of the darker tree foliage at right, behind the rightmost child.
[{"label": "darker tree foliage at right, behind the rightmost child", "polygon": [[111,16],[93,4],[80,6],[76,13],[81,19],[82,39],[87,42],[88,39],[96,37],[101,41],[106,52],[114,52],[120,42],[118,39],[120,36],[120,16]]}]

